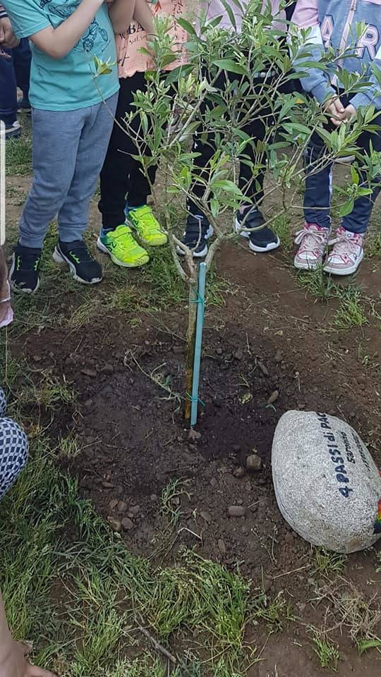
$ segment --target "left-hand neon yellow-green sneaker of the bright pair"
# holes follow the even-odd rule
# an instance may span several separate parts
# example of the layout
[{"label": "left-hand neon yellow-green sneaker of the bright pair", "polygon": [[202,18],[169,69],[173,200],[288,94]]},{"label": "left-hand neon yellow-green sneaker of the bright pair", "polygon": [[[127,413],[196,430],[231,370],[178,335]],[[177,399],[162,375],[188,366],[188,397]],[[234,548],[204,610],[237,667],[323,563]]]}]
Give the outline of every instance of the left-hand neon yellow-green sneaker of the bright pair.
[{"label": "left-hand neon yellow-green sneaker of the bright pair", "polygon": [[100,231],[97,248],[108,254],[111,261],[124,268],[138,268],[150,260],[147,252],[133,238],[131,228],[122,224],[114,231]]}]

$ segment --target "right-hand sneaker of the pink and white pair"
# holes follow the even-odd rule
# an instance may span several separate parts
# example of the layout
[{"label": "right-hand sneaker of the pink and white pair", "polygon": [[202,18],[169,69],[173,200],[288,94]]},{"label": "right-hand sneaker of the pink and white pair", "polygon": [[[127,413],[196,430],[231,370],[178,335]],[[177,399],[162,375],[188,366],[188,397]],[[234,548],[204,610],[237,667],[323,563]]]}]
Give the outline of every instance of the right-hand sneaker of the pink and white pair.
[{"label": "right-hand sneaker of the pink and white pair", "polygon": [[325,273],[332,275],[351,275],[355,273],[364,257],[364,238],[361,233],[351,233],[340,226],[336,237],[329,240],[333,245],[324,266]]}]

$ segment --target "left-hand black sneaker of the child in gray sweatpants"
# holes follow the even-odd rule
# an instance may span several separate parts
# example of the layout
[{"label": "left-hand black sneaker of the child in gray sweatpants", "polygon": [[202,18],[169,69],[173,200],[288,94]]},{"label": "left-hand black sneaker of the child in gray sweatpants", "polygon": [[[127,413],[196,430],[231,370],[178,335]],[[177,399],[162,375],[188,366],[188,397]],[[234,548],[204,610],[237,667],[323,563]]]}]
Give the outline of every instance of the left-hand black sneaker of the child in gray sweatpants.
[{"label": "left-hand black sneaker of the child in gray sweatpants", "polygon": [[40,286],[41,250],[16,245],[13,250],[9,282],[16,293],[32,294]]}]

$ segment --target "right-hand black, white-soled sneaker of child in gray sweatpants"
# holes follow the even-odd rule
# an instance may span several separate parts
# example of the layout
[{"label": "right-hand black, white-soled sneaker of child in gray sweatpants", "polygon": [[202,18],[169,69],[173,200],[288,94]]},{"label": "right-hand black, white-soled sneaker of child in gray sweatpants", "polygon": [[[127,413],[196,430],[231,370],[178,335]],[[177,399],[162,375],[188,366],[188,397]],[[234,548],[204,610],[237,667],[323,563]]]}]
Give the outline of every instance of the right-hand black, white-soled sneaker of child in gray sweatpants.
[{"label": "right-hand black, white-soled sneaker of child in gray sweatpants", "polygon": [[82,240],[59,242],[53,252],[56,263],[66,263],[71,276],[82,284],[97,284],[102,281],[102,267],[90,254]]}]

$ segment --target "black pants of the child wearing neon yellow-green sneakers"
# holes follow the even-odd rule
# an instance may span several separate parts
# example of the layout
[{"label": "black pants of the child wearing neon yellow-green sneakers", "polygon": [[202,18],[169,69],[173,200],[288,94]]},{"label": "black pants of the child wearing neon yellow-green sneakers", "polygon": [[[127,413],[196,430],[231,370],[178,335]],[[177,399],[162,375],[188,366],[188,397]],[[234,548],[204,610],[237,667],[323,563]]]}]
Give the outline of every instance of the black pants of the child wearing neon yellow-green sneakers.
[{"label": "black pants of the child wearing neon yellow-green sneakers", "polygon": [[[137,90],[145,91],[147,84],[144,73],[135,73],[131,78],[120,80],[116,122],[111,133],[109,148],[100,175],[99,212],[102,213],[102,225],[114,230],[125,221],[126,200],[129,207],[147,204],[150,195],[150,183],[144,175],[140,161],[132,155],[138,154],[131,130],[126,129],[126,114],[135,111],[133,94]],[[118,124],[119,123],[119,124]],[[120,125],[120,126],[119,126]],[[140,117],[133,120],[133,129],[138,133]],[[145,151],[147,153],[147,150]],[[156,168],[149,170],[150,181],[155,181]]]}]

